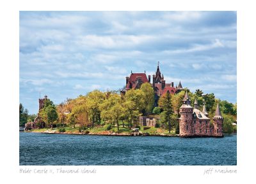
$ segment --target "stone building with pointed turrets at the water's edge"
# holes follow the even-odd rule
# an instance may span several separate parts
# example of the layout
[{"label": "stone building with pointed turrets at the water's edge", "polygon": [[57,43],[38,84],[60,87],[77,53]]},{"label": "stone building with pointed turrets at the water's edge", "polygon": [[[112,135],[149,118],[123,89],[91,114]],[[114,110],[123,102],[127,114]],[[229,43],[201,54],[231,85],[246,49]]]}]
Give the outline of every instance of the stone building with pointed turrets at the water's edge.
[{"label": "stone building with pointed turrets at the water's edge", "polygon": [[205,108],[198,110],[198,104],[195,100],[194,108],[186,92],[180,106],[180,136],[182,137],[223,137],[223,117],[221,116],[220,106],[217,104],[215,115],[210,124],[210,118]]}]

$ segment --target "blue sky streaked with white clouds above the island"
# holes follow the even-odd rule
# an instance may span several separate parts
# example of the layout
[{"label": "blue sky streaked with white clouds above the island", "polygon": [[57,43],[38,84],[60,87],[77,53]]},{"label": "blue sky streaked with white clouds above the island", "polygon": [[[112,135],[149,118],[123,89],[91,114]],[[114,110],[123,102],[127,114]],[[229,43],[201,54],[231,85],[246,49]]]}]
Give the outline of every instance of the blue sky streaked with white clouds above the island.
[{"label": "blue sky streaked with white clouds above the island", "polygon": [[19,97],[30,114],[39,97],[118,90],[158,61],[166,83],[236,103],[236,11],[20,11]]}]

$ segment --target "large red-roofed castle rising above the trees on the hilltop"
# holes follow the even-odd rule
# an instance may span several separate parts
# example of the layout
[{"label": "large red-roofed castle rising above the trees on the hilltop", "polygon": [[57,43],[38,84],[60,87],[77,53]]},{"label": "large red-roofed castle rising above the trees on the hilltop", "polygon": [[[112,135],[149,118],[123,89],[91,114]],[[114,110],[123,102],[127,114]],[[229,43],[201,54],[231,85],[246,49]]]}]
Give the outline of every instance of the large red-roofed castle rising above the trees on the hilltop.
[{"label": "large red-roofed castle rising above the trees on the hilltop", "polygon": [[[127,90],[130,89],[138,89],[141,87],[143,83],[150,83],[151,76],[146,75],[146,72],[144,73],[132,73],[130,77],[126,77],[126,83],[125,83],[125,90],[121,91],[121,94],[125,94]],[[164,80],[163,74],[161,75],[160,69],[159,69],[159,62],[157,64],[157,70],[156,74],[153,74],[152,83],[150,83],[152,88],[154,89],[155,96],[154,96],[154,106],[157,106],[157,102],[159,98],[166,94],[167,91],[170,92],[170,94],[177,94],[181,90],[183,90],[181,83],[179,82],[179,85],[174,87],[173,82],[166,83]]]}]

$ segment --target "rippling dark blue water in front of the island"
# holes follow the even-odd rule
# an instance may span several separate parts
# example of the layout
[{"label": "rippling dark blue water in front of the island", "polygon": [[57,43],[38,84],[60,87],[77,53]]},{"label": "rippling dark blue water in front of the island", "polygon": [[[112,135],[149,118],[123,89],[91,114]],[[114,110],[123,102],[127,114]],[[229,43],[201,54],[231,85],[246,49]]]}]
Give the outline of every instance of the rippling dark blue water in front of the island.
[{"label": "rippling dark blue water in front of the island", "polygon": [[236,165],[236,135],[120,137],[20,132],[20,166]]}]

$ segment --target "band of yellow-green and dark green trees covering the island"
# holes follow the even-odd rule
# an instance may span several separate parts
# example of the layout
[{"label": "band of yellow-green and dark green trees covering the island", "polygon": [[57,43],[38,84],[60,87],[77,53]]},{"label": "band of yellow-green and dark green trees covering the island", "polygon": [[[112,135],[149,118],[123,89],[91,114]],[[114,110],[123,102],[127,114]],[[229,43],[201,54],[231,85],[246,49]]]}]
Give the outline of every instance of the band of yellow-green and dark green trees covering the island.
[{"label": "band of yellow-green and dark green trees covering the island", "polygon": [[[79,124],[79,127],[84,128],[106,123],[116,125],[119,131],[120,125],[123,127],[127,125],[129,128],[134,124],[138,125],[140,116],[156,115],[161,118],[158,126],[168,129],[169,132],[175,128],[179,133],[179,108],[182,105],[185,91],[188,91],[191,98],[191,106],[195,99],[200,110],[205,104],[209,118],[214,116],[216,104],[219,103],[225,124],[230,125],[230,122],[236,120],[236,104],[220,101],[214,97],[214,94],[204,94],[199,89],[191,93],[188,88],[185,88],[175,95],[166,92],[160,97],[158,106],[154,108],[154,89],[150,83],[143,83],[140,89],[128,90],[125,95],[120,95],[115,91],[93,90],[85,96],[80,95],[76,99],[66,99],[58,105],[47,99],[44,108],[39,111],[39,116],[48,127],[53,125],[76,127]],[[22,104],[20,105],[22,106]],[[28,116],[28,110],[24,110],[22,106],[20,108],[20,125],[31,120]],[[31,121],[33,122],[33,120]]]}]

